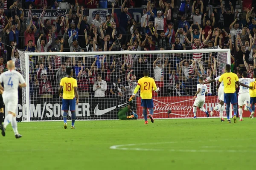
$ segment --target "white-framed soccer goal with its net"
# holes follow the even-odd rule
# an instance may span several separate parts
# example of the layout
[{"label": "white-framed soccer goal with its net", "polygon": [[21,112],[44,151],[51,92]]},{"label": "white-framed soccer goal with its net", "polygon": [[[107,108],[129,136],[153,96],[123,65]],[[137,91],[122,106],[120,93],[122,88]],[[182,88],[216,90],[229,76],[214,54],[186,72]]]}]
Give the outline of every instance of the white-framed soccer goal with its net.
[{"label": "white-framed soccer goal with its net", "polygon": [[[20,53],[21,71],[27,82],[22,89],[17,117],[23,121],[62,120],[59,82],[65,69],[73,68],[79,104],[76,119],[118,119],[128,105],[144,69],[150,71],[160,92],[153,91],[154,118],[192,118],[198,77],[214,79],[230,64],[230,49]],[[216,82],[207,84],[205,108],[218,103]],[[142,118],[140,97],[132,110]],[[70,119],[71,113],[69,113]],[[219,113],[215,112],[214,117]],[[197,117],[206,117],[200,110]]]}]

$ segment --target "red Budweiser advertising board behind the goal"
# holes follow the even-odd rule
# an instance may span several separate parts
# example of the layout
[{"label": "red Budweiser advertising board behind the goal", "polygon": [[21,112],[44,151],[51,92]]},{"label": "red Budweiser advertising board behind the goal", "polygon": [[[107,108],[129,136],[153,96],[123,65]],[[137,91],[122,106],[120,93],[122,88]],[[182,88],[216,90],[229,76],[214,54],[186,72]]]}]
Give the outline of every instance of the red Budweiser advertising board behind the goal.
[{"label": "red Budweiser advertising board behind the goal", "polygon": [[[193,96],[166,96],[166,97],[153,97],[154,102],[154,118],[192,118],[193,114]],[[206,96],[204,108],[210,111],[218,102],[216,96]],[[215,103],[210,101],[216,101]],[[140,97],[137,98],[137,106],[140,106]],[[137,114],[139,119],[143,119],[143,108],[137,107]],[[202,117],[203,111],[198,109],[197,117]],[[218,117],[219,112],[214,111],[213,117]],[[224,111],[224,116],[226,116]],[[249,117],[250,112],[243,110],[243,117]]]}]

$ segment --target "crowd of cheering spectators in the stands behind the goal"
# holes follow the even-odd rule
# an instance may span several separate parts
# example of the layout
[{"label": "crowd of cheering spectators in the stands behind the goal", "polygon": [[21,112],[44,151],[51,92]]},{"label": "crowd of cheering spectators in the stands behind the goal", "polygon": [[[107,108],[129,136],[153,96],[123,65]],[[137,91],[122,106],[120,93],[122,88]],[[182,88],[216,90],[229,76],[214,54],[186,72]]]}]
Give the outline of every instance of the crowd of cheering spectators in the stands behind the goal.
[{"label": "crowd of cheering spectators in the stands behind the goal", "polygon": [[[236,1],[222,0],[66,0],[67,14],[54,23],[45,11],[58,9],[62,0],[0,0],[0,73],[12,59],[20,71],[20,53],[60,51],[154,51],[230,48],[233,71],[252,77],[256,68],[256,18],[254,8],[242,10]],[[179,1],[179,2],[177,2]],[[216,2],[218,1],[218,2]],[[179,8],[175,8],[180,4]],[[141,8],[142,17],[129,18],[129,8]],[[112,8],[106,21],[88,8]],[[115,8],[121,8],[116,25]],[[32,15],[38,9],[40,16]],[[237,9],[237,10],[236,10]],[[28,17],[24,17],[24,11]],[[222,21],[223,18],[223,22]],[[24,36],[20,36],[21,31]],[[3,37],[3,39],[2,39]],[[217,56],[194,54],[127,54],[97,56],[30,56],[30,94],[57,97],[66,67],[73,67],[81,97],[131,95],[143,70],[150,70],[159,96],[194,95],[198,77],[216,77]],[[254,61],[255,62],[254,62]],[[214,83],[208,94],[215,93]]]}]

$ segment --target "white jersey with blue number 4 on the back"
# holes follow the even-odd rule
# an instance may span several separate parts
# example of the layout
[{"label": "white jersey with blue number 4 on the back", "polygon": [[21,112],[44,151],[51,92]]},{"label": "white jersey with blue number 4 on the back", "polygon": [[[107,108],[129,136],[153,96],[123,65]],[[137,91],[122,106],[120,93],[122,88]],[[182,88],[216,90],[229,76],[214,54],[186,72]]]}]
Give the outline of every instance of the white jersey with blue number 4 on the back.
[{"label": "white jersey with blue number 4 on the back", "polygon": [[25,80],[19,72],[8,70],[0,75],[0,83],[1,82],[3,82],[4,86],[3,97],[17,97],[19,83],[23,84]]}]

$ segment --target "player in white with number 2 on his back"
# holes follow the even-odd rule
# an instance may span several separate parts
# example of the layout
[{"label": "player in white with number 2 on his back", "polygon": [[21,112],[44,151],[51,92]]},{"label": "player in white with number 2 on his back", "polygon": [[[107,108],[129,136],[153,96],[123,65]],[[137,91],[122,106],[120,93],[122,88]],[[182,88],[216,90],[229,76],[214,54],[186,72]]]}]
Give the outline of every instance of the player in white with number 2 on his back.
[{"label": "player in white with number 2 on his back", "polygon": [[202,84],[204,82],[203,77],[199,77],[199,83],[197,86],[197,92],[193,99],[195,99],[194,105],[193,105],[193,113],[194,113],[194,119],[196,119],[196,111],[197,108],[199,108],[201,111],[204,111],[206,113],[206,116],[209,117],[209,112],[205,110],[204,103],[205,103],[205,95],[207,94],[207,86]]}]

